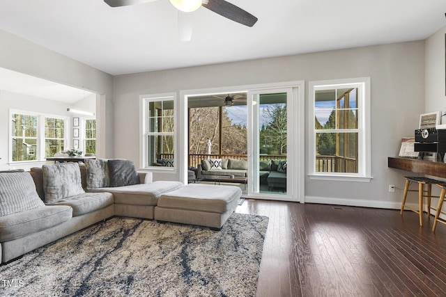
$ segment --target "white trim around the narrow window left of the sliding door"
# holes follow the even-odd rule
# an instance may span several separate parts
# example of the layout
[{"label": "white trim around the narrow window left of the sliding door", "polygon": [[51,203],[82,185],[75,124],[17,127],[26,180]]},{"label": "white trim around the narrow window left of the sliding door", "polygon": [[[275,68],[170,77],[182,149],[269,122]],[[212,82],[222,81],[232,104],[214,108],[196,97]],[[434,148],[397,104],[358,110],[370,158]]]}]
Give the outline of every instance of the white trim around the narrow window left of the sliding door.
[{"label": "white trim around the narrow window left of the sliding door", "polygon": [[[178,168],[178,141],[177,141],[177,123],[178,123],[178,107],[176,93],[161,93],[139,96],[139,167],[142,169],[150,169],[152,172],[177,172]],[[174,101],[174,167],[149,166],[147,159],[147,102],[153,101]]]}]

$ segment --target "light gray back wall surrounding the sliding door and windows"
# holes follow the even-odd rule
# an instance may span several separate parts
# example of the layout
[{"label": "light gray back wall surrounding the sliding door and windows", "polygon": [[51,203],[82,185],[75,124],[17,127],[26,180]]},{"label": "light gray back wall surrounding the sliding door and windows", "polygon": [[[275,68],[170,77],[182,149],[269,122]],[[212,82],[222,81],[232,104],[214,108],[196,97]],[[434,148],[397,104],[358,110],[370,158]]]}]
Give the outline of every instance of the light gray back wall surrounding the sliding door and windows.
[{"label": "light gray back wall surrounding the sliding door and windows", "polygon": [[[115,156],[139,163],[139,95],[280,81],[305,80],[308,86],[308,81],[352,77],[371,77],[374,179],[369,183],[306,179],[307,201],[398,208],[401,193],[389,193],[388,184],[402,188],[402,173],[387,168],[387,156],[399,152],[401,137],[413,135],[424,111],[424,41],[114,77]],[[307,126],[312,122],[306,118]],[[308,152],[305,155],[307,159]],[[179,179],[178,174],[155,178]]]}]

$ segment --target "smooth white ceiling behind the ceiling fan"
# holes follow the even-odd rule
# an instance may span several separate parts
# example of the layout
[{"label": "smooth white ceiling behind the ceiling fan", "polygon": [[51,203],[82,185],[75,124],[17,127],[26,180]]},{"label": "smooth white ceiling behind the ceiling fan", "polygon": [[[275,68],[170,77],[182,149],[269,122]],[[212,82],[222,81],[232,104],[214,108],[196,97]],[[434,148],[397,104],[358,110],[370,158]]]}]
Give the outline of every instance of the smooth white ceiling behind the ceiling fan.
[{"label": "smooth white ceiling behind the ceiling fan", "polygon": [[229,0],[252,28],[199,8],[180,42],[169,0],[1,0],[0,29],[109,74],[423,40],[445,26],[445,0]]}]

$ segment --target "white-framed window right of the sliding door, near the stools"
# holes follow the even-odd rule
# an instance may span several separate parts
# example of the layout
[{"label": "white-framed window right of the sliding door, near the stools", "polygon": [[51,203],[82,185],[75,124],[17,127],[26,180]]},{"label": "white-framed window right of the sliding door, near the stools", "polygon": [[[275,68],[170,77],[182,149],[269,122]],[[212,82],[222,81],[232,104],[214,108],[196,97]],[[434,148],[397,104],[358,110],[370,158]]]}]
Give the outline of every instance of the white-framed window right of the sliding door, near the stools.
[{"label": "white-framed window right of the sliding door, near the stools", "polygon": [[370,177],[369,79],[310,83],[310,175]]}]

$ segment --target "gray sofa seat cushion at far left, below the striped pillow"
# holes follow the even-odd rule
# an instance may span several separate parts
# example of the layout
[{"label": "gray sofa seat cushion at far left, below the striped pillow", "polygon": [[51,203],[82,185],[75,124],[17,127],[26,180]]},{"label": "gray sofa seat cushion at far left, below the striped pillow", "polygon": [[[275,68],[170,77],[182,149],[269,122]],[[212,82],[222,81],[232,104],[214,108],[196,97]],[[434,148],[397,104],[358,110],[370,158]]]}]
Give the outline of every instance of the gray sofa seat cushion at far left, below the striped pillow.
[{"label": "gray sofa seat cushion at far left, below the striped pillow", "polygon": [[10,241],[59,225],[72,218],[68,206],[39,207],[0,217],[0,241]]}]

